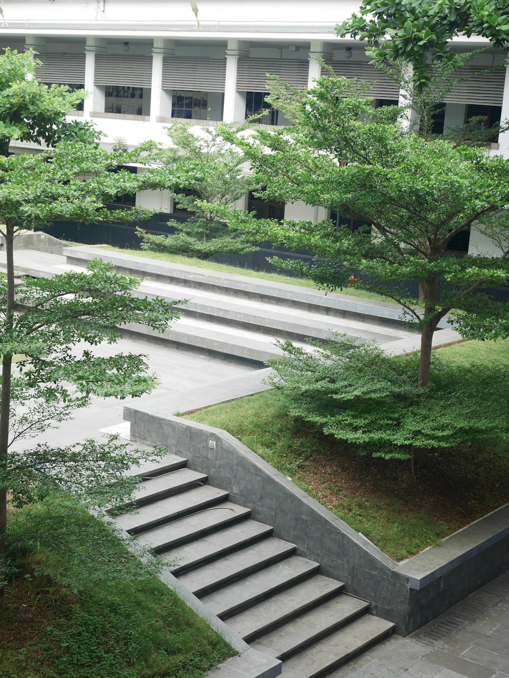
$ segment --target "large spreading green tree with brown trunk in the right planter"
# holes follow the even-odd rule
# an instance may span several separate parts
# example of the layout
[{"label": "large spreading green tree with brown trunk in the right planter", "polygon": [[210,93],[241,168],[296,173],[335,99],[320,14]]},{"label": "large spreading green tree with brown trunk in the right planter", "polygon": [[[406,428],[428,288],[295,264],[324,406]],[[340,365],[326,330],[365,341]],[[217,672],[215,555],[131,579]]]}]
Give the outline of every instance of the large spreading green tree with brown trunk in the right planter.
[{"label": "large spreading green tree with brown trunk in the right planter", "polygon": [[[322,77],[303,94],[275,79],[270,103],[294,125],[260,129],[239,143],[270,197],[321,205],[366,226],[352,232],[330,220],[280,224],[241,211],[216,214],[249,237],[314,254],[312,262],[272,259],[279,268],[330,290],[355,275],[365,289],[401,304],[421,328],[418,383],[427,386],[433,334],[451,311],[462,311],[453,324],[464,336],[509,336],[508,304],[479,292],[507,284],[506,250],[462,258],[446,251],[453,236],[491,216],[507,241],[509,160],[402,134],[390,112],[349,91],[342,78]],[[407,286],[415,279],[419,298]]]}]

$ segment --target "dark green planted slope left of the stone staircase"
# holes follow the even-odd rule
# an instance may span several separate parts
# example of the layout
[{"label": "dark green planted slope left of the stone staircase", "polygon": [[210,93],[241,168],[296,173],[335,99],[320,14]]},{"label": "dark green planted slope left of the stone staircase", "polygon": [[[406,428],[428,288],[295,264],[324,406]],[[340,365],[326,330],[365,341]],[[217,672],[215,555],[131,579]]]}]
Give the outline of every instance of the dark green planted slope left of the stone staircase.
[{"label": "dark green planted slope left of the stone staircase", "polygon": [[[75,500],[11,513],[0,678],[199,678],[235,654]],[[47,529],[62,516],[72,552]]]}]

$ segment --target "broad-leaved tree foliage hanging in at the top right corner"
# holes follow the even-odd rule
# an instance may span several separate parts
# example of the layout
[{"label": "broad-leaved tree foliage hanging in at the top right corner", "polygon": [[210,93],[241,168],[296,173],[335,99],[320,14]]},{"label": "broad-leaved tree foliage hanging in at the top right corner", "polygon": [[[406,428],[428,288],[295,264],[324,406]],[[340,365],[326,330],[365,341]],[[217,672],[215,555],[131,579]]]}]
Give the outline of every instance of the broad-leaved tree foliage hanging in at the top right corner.
[{"label": "broad-leaved tree foliage hanging in at the top right corner", "polygon": [[[450,41],[459,35],[487,38],[493,47],[509,42],[508,0],[364,0],[359,12],[336,26],[340,37],[366,41],[373,63],[387,58],[412,65],[418,92],[429,86],[431,66],[455,64]],[[431,62],[428,55],[431,54]]]}]

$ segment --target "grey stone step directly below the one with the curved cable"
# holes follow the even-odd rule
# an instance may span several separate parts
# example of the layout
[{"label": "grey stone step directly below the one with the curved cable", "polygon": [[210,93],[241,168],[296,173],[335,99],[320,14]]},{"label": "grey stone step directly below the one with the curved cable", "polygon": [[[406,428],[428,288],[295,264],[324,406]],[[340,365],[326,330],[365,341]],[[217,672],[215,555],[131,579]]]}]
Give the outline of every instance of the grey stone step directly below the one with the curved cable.
[{"label": "grey stone step directly below the one with the curved cable", "polygon": [[273,531],[270,525],[263,525],[254,520],[245,520],[219,532],[213,532],[190,544],[177,546],[161,555],[163,560],[175,563],[171,567],[174,575],[179,575],[193,567],[215,560],[221,555],[237,551],[241,546],[252,544],[270,536]]}]

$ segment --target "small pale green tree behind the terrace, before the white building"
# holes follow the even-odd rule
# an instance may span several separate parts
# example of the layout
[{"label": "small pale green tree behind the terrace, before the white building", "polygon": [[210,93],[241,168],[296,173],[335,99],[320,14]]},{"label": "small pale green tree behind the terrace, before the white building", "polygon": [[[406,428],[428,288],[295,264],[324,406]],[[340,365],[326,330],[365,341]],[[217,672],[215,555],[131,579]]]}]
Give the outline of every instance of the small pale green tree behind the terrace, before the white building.
[{"label": "small pale green tree behind the terrace, before the white building", "polygon": [[[222,127],[201,127],[194,132],[189,123],[178,122],[167,127],[173,146],[161,154],[163,166],[186,167],[194,178],[186,184],[190,194],[175,194],[175,203],[189,212],[186,222],[170,220],[173,235],[152,235],[138,228],[142,249],[173,252],[208,259],[213,254],[249,254],[258,247],[241,233],[228,230],[214,218],[207,205],[230,205],[258,187],[256,177],[245,172],[245,155],[238,146],[226,142]],[[226,125],[229,134],[237,137],[244,126]],[[169,184],[168,188],[172,188]],[[197,201],[200,201],[198,203]]]}]

